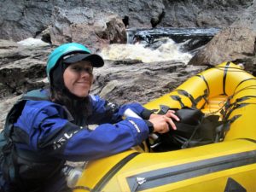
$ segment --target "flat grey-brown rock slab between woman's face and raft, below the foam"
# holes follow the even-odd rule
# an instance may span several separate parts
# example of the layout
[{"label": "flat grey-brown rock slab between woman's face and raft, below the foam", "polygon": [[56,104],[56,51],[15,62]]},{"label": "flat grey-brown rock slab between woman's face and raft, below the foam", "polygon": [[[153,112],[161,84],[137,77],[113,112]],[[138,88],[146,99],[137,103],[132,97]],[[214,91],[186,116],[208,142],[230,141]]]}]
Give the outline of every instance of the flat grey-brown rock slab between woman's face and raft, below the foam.
[{"label": "flat grey-brown rock slab between woman's face and raft, below the foam", "polygon": [[96,82],[92,93],[100,94],[106,85],[111,89],[104,91],[104,98],[112,102],[145,104],[175,89],[203,68],[186,66],[179,61],[139,62],[133,65],[115,65],[113,61],[107,61],[104,67],[95,70]]}]

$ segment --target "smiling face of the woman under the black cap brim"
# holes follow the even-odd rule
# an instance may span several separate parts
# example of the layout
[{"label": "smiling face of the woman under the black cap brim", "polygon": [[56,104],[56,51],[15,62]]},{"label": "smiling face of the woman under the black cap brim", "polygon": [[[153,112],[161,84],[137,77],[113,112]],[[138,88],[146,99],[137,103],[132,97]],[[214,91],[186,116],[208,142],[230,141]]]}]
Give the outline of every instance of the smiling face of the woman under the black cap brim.
[{"label": "smiling face of the woman under the black cap brim", "polygon": [[93,82],[92,69],[90,61],[79,61],[71,64],[64,71],[64,84],[73,95],[88,96]]}]

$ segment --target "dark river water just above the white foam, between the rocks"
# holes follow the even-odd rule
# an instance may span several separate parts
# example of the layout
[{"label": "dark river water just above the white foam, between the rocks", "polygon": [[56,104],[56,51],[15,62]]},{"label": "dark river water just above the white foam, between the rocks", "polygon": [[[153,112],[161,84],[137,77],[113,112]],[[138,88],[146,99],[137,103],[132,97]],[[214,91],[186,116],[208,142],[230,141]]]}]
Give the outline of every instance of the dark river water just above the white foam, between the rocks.
[{"label": "dark river water just above the white foam, between the rocks", "polygon": [[128,29],[127,36],[130,44],[146,44],[147,47],[157,49],[160,44],[166,43],[166,40],[172,38],[177,44],[181,44],[183,52],[192,52],[195,49],[207,44],[219,28],[154,28],[154,29]]}]

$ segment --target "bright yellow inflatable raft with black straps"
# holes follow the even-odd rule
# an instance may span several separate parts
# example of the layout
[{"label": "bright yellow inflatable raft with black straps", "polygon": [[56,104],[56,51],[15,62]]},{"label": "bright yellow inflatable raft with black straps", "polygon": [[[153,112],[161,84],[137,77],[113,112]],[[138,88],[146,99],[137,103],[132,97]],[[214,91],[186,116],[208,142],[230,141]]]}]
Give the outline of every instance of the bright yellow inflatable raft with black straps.
[{"label": "bright yellow inflatable raft with black straps", "polygon": [[[129,150],[90,162],[74,192],[256,191],[256,79],[225,62],[188,79],[177,90],[148,102],[225,112],[231,123],[224,142],[163,153]],[[221,114],[222,115],[222,114]]]}]

